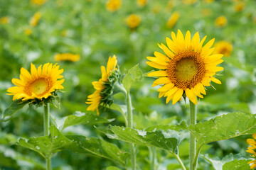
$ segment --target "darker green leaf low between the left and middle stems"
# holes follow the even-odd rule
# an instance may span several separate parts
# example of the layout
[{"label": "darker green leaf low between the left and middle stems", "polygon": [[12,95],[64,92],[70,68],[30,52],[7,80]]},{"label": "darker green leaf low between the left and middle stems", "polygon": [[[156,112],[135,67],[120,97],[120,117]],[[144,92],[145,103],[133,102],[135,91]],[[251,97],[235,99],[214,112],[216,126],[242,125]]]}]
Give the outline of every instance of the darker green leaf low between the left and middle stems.
[{"label": "darker green leaf low between the left and middle stems", "polygon": [[73,147],[74,152],[89,153],[98,157],[104,157],[125,166],[125,161],[129,154],[112,143],[79,135],[70,135],[67,137],[75,142],[75,146]]}]

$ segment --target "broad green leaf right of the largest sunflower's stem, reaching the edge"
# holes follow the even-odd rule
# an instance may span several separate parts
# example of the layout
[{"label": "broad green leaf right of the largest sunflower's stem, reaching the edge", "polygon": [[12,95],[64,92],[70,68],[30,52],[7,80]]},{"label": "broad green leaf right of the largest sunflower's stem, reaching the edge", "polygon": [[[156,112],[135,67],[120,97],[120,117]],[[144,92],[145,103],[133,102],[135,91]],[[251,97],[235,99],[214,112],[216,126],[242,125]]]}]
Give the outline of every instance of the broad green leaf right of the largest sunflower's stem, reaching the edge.
[{"label": "broad green leaf right of the largest sunflower's stem, reaching the edge", "polygon": [[240,135],[249,135],[256,132],[255,115],[245,113],[228,113],[216,116],[204,123],[188,127],[196,137],[198,146],[201,147],[210,142],[227,140]]}]

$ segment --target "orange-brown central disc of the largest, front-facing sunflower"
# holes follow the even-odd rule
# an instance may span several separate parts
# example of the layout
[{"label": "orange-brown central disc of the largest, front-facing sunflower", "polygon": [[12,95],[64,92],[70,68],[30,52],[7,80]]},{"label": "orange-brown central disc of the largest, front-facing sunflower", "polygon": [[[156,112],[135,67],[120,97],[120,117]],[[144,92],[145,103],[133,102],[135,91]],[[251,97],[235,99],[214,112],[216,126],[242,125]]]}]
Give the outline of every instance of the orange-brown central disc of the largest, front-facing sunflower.
[{"label": "orange-brown central disc of the largest, front-facing sunflower", "polygon": [[179,52],[170,60],[166,73],[179,89],[191,89],[205,76],[205,63],[198,52]]}]

